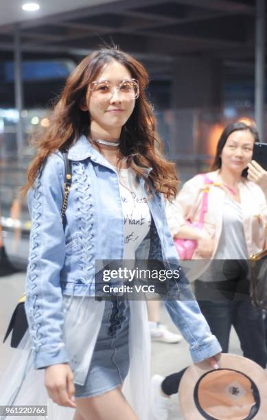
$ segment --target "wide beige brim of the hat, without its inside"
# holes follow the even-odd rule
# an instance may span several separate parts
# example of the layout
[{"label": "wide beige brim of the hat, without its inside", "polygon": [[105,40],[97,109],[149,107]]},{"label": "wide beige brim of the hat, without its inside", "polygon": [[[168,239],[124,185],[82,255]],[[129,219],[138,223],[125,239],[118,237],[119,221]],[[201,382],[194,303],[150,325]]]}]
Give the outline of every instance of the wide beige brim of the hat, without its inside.
[{"label": "wide beige brim of the hat, without its inside", "polygon": [[[260,404],[259,410],[253,420],[267,419],[267,372],[259,364],[244,358],[240,355],[221,353],[218,360],[220,369],[234,369],[251,378],[259,390]],[[200,420],[205,417],[200,413],[194,401],[194,390],[196,383],[209,371],[213,371],[209,362],[199,362],[192,364],[183,374],[178,390],[178,399],[181,413],[185,420]],[[206,417],[209,418],[209,417]],[[212,417],[210,417],[212,418]]]}]

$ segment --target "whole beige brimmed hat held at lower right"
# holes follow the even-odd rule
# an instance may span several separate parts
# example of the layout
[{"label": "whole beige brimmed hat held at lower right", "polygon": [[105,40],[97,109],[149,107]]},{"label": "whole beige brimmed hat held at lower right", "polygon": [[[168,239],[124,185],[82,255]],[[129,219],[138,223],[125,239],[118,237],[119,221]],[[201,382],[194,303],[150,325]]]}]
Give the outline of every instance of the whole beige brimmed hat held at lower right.
[{"label": "whole beige brimmed hat held at lower right", "polygon": [[220,369],[189,366],[179,386],[185,420],[266,420],[267,371],[240,355],[222,353]]}]

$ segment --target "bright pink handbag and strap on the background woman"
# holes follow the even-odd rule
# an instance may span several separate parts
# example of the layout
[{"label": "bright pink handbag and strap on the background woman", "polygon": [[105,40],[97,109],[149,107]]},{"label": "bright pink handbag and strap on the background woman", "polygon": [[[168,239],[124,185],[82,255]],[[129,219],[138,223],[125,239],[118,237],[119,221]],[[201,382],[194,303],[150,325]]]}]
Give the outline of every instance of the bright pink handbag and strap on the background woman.
[{"label": "bright pink handbag and strap on the background woman", "polygon": [[[205,186],[207,185],[207,187],[205,187],[204,192],[203,192],[202,207],[200,211],[199,222],[192,223],[190,220],[187,220],[187,224],[189,224],[189,226],[192,226],[196,229],[202,229],[204,226],[204,217],[208,209],[208,194],[209,194],[208,185],[213,184],[213,181],[210,180],[206,174],[203,174],[203,180],[204,180]],[[174,240],[174,246],[177,250],[179,259],[192,259],[195,249],[198,246],[198,241],[178,238]]]}]

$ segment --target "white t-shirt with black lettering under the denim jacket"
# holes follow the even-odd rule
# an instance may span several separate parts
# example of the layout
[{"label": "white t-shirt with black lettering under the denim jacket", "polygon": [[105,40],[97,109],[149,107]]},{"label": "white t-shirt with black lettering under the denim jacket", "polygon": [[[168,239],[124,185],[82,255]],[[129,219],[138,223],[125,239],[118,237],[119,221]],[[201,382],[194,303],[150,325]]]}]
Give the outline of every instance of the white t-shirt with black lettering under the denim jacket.
[{"label": "white t-shirt with black lettering under the denim jacket", "polygon": [[131,168],[119,170],[119,191],[124,212],[124,259],[135,259],[135,250],[150,229],[148,199]]}]

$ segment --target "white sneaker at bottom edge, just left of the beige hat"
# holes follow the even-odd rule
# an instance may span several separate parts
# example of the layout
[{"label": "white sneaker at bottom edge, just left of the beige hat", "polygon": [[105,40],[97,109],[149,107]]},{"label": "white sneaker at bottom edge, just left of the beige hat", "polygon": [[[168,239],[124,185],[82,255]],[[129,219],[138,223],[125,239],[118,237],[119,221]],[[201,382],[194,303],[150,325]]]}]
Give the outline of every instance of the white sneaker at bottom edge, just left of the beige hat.
[{"label": "white sneaker at bottom edge, just left of the beige hat", "polygon": [[161,394],[161,384],[164,377],[154,375],[151,380],[151,412],[154,420],[167,420],[169,411],[169,398]]}]

